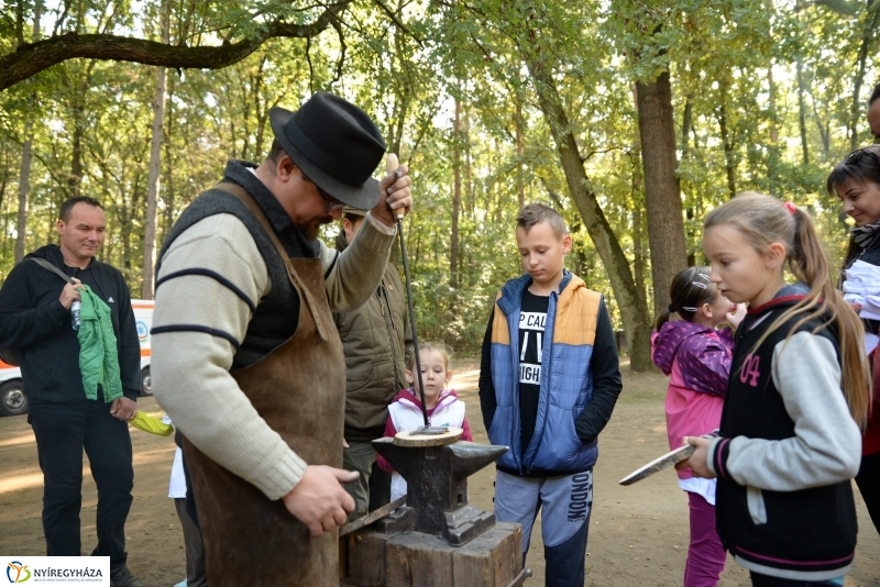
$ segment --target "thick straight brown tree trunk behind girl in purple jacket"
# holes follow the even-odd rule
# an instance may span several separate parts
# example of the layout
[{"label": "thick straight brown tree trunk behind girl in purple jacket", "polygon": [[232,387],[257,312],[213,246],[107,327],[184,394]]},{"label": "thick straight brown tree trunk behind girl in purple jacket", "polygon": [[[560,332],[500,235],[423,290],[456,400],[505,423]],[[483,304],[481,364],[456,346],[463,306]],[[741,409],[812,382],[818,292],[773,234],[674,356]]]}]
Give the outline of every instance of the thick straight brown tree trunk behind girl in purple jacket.
[{"label": "thick straight brown tree trunk behind girl in purple jacket", "polygon": [[[636,82],[641,162],[645,167],[645,211],[651,250],[654,290],[669,287],[688,263],[681,185],[675,171],[675,123],[669,71],[650,84]],[[654,296],[654,314],[666,308],[666,296]]]}]

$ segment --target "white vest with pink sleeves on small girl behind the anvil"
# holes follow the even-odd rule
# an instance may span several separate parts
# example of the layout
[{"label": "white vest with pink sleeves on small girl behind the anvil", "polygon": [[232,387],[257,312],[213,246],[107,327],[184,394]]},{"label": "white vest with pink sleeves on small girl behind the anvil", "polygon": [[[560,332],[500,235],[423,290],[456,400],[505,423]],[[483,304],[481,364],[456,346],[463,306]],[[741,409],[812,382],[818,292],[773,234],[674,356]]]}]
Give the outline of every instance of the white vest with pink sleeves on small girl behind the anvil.
[{"label": "white vest with pink sleeves on small girl behind the anvil", "polygon": [[[461,440],[473,442],[471,427],[464,417],[464,402],[459,400],[458,394],[453,389],[443,389],[437,400],[437,406],[428,410],[428,421],[436,427],[461,428],[464,432]],[[388,419],[385,421],[385,436],[394,438],[403,430],[414,430],[425,425],[425,418],[421,414],[421,401],[416,397],[415,391],[402,389],[394,401],[388,406]],[[406,480],[394,470],[394,467],[382,455],[376,455],[376,464],[383,470],[393,472],[392,475],[392,501],[406,495]]]}]

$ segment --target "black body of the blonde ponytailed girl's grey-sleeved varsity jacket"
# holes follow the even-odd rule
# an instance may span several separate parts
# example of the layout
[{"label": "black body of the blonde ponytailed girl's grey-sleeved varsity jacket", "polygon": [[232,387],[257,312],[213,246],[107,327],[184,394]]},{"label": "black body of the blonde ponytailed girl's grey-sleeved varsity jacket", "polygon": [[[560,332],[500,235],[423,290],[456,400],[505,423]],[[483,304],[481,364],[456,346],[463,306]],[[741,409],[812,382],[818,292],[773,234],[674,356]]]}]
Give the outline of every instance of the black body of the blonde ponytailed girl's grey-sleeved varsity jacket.
[{"label": "black body of the blonde ponytailed girl's grey-sleeved varsity jacket", "polygon": [[[790,288],[794,289],[794,288]],[[751,490],[736,483],[727,470],[730,442],[747,436],[779,441],[795,436],[795,422],[773,380],[773,352],[784,344],[800,318],[774,330],[756,350],[770,325],[803,295],[774,298],[750,309],[736,332],[734,362],[722,413],[722,440],[714,455],[718,474],[716,523],[724,546],[737,561],[760,573],[818,580],[810,574],[845,574],[856,549],[856,507],[850,481],[807,487],[795,491]],[[761,321],[762,320],[762,321]],[[752,324],[755,324],[752,326]],[[798,332],[814,332],[839,351],[834,326],[820,319]],[[756,522],[752,512],[766,511]],[[761,568],[772,571],[759,571]]]}]

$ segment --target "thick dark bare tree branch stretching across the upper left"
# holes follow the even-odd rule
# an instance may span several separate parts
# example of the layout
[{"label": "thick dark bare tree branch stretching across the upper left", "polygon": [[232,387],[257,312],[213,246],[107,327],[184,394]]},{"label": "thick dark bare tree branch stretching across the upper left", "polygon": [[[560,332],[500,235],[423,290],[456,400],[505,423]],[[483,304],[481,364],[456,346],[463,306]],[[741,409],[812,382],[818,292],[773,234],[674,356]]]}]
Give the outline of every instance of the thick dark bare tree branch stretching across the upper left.
[{"label": "thick dark bare tree branch stretching across the upper left", "polygon": [[310,38],[327,29],[353,0],[339,0],[309,24],[270,23],[255,36],[220,46],[170,46],[154,41],[108,34],[68,33],[19,46],[0,58],[0,91],[64,60],[85,57],[177,68],[220,69],[235,64],[273,37]]}]

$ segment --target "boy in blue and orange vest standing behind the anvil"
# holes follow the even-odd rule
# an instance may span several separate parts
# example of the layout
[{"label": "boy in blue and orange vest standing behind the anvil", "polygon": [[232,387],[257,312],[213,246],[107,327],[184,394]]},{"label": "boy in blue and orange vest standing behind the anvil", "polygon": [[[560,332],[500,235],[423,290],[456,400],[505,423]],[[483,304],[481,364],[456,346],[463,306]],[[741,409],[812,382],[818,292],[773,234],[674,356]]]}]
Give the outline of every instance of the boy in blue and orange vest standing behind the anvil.
[{"label": "boy in blue and orange vest standing behind the anvil", "polygon": [[497,461],[495,516],[522,525],[541,510],[548,586],[584,584],[596,438],[620,394],[617,346],[601,294],[563,267],[565,221],[531,203],[516,219],[525,275],[495,299],[483,340],[480,406]]}]

